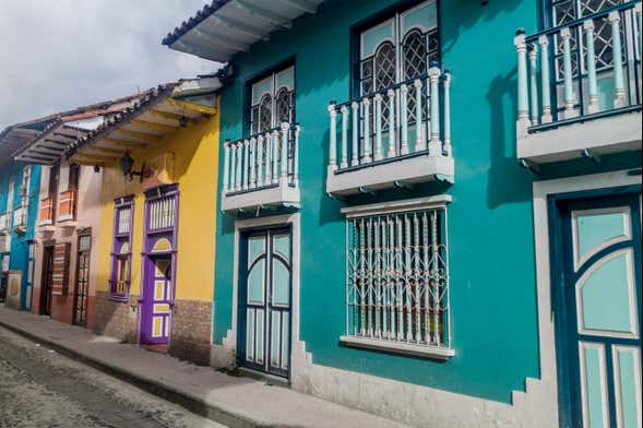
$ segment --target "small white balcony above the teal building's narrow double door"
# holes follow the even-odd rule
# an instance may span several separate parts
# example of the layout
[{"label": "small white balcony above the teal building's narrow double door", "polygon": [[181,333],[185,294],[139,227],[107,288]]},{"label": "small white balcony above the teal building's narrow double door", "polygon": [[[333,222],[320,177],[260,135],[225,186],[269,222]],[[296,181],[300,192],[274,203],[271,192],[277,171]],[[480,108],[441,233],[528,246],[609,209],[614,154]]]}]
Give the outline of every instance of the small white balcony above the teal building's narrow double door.
[{"label": "small white balcony above the teal building's narrow double door", "polygon": [[224,145],[222,210],[299,206],[298,124],[282,123]]}]

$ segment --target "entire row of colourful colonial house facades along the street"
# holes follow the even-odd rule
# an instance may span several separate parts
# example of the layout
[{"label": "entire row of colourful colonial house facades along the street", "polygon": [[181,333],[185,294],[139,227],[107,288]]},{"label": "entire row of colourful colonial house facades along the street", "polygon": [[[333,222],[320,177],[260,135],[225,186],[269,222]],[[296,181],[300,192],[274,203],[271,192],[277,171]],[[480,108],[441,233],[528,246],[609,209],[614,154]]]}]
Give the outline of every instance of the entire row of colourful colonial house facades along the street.
[{"label": "entire row of colourful colonial house facades along the street", "polygon": [[213,1],[163,44],[215,74],[0,133],[7,304],[410,426],[638,427],[641,34]]}]

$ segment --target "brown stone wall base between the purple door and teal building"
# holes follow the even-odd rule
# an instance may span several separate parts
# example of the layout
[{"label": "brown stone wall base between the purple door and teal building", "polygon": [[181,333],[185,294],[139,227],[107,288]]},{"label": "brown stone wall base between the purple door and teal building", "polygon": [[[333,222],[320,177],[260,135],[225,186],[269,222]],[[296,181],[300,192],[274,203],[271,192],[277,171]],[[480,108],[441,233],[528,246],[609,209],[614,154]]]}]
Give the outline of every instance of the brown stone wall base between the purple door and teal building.
[{"label": "brown stone wall base between the purple door and teal building", "polygon": [[170,334],[170,355],[207,366],[212,343],[212,301],[176,300]]}]

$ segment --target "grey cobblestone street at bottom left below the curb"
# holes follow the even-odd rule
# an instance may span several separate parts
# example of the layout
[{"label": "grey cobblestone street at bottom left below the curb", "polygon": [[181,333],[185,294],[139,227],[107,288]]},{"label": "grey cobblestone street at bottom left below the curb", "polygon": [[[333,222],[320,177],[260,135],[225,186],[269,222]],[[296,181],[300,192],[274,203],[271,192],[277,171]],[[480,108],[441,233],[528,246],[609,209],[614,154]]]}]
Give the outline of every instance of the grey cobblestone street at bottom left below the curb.
[{"label": "grey cobblestone street at bottom left below the curb", "polygon": [[0,427],[223,426],[0,328]]}]

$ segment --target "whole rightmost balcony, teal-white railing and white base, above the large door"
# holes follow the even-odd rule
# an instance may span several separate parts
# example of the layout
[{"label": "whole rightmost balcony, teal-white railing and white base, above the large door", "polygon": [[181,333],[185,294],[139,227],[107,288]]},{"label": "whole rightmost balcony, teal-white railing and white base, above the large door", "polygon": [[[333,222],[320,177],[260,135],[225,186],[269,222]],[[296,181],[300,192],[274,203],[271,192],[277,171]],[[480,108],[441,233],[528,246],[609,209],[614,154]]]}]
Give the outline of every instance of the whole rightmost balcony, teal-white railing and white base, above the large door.
[{"label": "whole rightmost balcony, teal-white railing and white base, above the large door", "polygon": [[539,164],[641,150],[641,2],[525,36],[516,155]]}]

